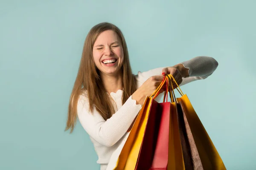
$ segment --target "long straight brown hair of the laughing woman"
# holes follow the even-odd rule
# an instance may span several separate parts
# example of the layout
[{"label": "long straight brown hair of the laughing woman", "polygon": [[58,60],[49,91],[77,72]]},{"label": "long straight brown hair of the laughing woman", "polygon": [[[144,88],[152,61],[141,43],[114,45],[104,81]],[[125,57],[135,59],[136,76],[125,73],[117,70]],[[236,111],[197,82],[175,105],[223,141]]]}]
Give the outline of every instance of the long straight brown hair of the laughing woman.
[{"label": "long straight brown hair of the laughing woman", "polygon": [[65,129],[65,131],[71,129],[70,133],[73,132],[76,125],[78,99],[80,94],[84,91],[87,92],[90,112],[92,112],[95,107],[96,111],[107,120],[115,111],[110,96],[106,93],[103,86],[99,70],[96,68],[93,61],[94,42],[99,34],[107,30],[115,31],[120,40],[122,40],[122,48],[124,52],[124,61],[121,68],[123,74],[122,104],[124,104],[129,96],[136,91],[137,80],[131,71],[128,49],[121,30],[111,23],[99,23],[96,26],[93,26],[84,41],[78,74],[70,96],[67,125]]}]

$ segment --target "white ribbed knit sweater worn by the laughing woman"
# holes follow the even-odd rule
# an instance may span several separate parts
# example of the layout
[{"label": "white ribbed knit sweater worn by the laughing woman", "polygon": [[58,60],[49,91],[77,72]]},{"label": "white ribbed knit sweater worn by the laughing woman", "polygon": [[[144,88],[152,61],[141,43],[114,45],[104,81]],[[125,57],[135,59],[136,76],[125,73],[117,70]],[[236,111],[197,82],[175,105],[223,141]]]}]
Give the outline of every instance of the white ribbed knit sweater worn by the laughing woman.
[{"label": "white ribbed knit sweater worn by the laughing woman", "polygon": [[[189,77],[183,78],[183,82],[180,86],[195,80],[205,79],[218,67],[218,62],[214,58],[206,56],[195,57],[188,61],[181,62],[180,64],[183,64],[185,68],[189,68]],[[155,68],[145,72],[138,72],[136,76],[137,88],[149,77],[161,75],[162,69],[163,68]],[[89,111],[86,92],[79,97],[77,105],[79,122],[93,142],[94,149],[99,157],[97,163],[101,164],[101,170],[107,168],[113,151],[116,150],[124,137],[127,136],[128,128],[142,108],[141,105],[136,104],[136,101],[132,99],[131,96],[124,105],[122,105],[122,93],[122,90],[118,90],[116,93],[112,92],[110,94],[116,102],[117,110],[107,121],[102,118],[96,109],[93,110],[93,113]],[[159,101],[162,96],[163,94],[157,97],[157,102],[162,102]]]}]

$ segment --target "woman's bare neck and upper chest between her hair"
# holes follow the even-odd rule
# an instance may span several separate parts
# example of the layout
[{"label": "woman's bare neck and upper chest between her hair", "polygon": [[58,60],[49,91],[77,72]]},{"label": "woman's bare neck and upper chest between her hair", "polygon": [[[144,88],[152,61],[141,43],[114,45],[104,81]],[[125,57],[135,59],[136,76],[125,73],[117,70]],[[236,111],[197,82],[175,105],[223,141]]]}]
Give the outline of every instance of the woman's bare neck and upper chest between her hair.
[{"label": "woman's bare neck and upper chest between her hair", "polygon": [[122,90],[122,74],[118,74],[116,76],[112,75],[101,75],[102,83],[104,88],[110,94],[111,92],[116,93],[118,90]]}]

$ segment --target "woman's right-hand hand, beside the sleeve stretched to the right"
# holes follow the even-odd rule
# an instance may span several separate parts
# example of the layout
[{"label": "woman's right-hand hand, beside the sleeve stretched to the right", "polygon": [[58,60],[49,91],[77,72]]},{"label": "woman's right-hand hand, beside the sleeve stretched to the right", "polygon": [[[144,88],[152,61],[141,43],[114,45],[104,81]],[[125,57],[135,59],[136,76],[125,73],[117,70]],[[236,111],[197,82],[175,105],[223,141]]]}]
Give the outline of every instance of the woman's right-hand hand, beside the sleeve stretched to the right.
[{"label": "woman's right-hand hand, beside the sleeve stretched to the right", "polygon": [[[178,64],[172,67],[163,68],[162,74],[171,74],[174,77],[177,84],[180,85],[182,82],[182,78],[188,76],[188,69],[184,68],[182,64]],[[177,88],[177,85],[174,81],[172,81],[172,85],[174,89]]]}]

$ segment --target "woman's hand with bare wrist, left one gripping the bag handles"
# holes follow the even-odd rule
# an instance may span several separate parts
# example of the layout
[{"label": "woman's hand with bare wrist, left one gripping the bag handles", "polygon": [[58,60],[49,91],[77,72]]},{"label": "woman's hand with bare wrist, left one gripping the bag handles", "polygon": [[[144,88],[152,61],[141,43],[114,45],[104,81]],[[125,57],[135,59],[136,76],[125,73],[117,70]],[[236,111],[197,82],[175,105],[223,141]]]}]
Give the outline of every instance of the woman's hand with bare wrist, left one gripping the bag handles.
[{"label": "woman's hand with bare wrist, left one gripping the bag handles", "polygon": [[[132,94],[132,99],[137,101],[137,104],[143,105],[146,96],[151,96],[154,91],[158,88],[158,86],[163,81],[164,76],[152,76],[149,77],[141,86],[137,89],[137,91]],[[160,93],[163,90],[160,91]]]}]

